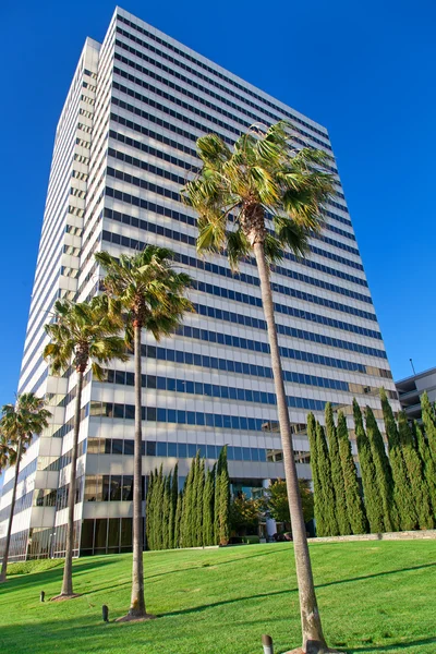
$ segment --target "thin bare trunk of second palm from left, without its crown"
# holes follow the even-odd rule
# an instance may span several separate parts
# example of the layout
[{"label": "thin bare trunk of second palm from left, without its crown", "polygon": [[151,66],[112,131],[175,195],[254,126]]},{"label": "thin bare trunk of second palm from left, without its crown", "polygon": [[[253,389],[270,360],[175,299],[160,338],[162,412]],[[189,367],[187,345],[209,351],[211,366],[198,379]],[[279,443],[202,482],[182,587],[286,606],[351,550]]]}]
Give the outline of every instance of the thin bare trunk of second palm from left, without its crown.
[{"label": "thin bare trunk of second palm from left, without its crown", "polygon": [[68,505],[66,523],[66,546],[65,546],[65,566],[63,568],[62,596],[73,595],[73,547],[74,547],[74,506],[75,506],[75,486],[76,486],[76,467],[77,467],[77,444],[78,431],[81,428],[81,407],[82,407],[83,372],[77,371],[77,391],[75,397],[74,410],[74,433],[73,451],[71,456],[70,491]]}]

